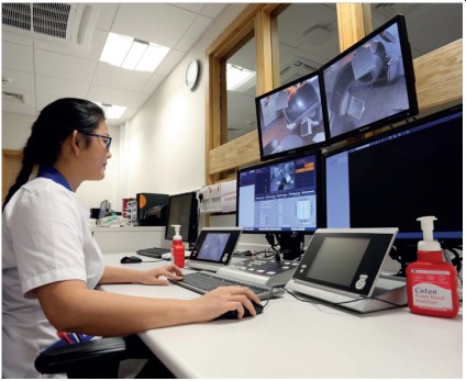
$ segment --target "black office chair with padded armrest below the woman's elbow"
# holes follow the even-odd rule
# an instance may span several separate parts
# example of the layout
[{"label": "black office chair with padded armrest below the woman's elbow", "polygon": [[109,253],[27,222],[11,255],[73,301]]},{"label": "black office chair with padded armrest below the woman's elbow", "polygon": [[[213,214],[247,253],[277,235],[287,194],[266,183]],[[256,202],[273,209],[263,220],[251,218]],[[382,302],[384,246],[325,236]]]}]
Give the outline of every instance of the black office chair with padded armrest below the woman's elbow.
[{"label": "black office chair with padded armrest below the woman's elbow", "polygon": [[106,337],[46,349],[37,356],[34,366],[40,373],[66,373],[69,379],[115,379],[120,361],[126,359],[148,359],[153,372],[156,372],[151,378],[173,378],[137,335]]}]

